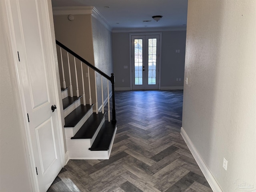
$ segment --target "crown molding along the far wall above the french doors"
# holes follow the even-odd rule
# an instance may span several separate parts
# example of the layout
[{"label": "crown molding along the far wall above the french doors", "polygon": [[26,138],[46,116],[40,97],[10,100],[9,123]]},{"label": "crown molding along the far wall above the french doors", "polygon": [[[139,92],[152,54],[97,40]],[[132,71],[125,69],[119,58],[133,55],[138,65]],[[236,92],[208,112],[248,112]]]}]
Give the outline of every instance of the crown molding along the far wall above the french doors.
[{"label": "crown molding along the far wall above the french doors", "polygon": [[112,33],[137,33],[137,32],[162,32],[162,31],[186,31],[187,28],[121,28],[113,29]]}]

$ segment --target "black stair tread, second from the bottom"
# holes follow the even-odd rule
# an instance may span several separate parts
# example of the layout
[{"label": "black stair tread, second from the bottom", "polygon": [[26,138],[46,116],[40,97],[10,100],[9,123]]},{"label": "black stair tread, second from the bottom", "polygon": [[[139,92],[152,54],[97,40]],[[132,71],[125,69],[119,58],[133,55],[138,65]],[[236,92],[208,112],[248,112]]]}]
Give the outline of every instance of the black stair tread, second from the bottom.
[{"label": "black stair tread, second from the bottom", "polygon": [[106,113],[93,113],[71,139],[91,139]]}]

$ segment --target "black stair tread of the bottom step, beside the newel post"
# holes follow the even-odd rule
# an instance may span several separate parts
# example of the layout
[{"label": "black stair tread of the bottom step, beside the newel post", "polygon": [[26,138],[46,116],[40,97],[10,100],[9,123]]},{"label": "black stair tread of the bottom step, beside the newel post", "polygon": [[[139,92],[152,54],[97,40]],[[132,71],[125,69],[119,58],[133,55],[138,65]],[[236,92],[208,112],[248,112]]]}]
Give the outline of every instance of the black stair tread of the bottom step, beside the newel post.
[{"label": "black stair tread of the bottom step, beside the newel post", "polygon": [[105,121],[100,129],[97,137],[95,138],[92,147],[89,148],[91,151],[106,151],[110,147],[111,140],[116,129],[116,123]]}]

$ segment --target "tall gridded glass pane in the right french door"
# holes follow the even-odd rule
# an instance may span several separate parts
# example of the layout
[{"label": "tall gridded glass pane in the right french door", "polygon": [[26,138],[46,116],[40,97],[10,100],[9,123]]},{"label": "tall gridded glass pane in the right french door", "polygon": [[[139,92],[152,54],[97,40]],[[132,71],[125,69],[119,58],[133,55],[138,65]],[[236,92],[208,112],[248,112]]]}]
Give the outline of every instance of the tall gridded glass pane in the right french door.
[{"label": "tall gridded glass pane in the right french door", "polygon": [[148,85],[156,84],[156,38],[148,39]]}]

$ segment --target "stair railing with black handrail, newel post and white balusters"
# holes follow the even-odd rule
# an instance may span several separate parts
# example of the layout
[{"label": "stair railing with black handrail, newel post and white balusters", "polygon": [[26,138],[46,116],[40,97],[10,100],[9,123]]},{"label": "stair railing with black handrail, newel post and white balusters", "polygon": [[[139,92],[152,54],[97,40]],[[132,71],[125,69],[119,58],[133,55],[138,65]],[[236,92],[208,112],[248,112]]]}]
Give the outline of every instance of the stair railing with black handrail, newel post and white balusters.
[{"label": "stair railing with black handrail, newel post and white balusters", "polygon": [[[83,87],[83,102],[84,105],[85,102],[85,90],[84,90],[84,74],[83,74],[83,64],[86,64],[87,70],[88,70],[88,90],[89,90],[89,103],[92,105],[92,98],[91,98],[91,85],[90,85],[90,72],[89,67],[94,70],[94,77],[95,77],[95,94],[96,94],[96,113],[98,114],[98,98],[97,98],[97,85],[96,85],[96,72],[98,72],[101,75],[101,93],[102,93],[102,114],[104,114],[104,98],[103,98],[103,83],[102,83],[102,76],[105,77],[107,80],[109,80],[112,84],[112,123],[116,123],[116,106],[115,106],[115,77],[114,73],[111,74],[111,76],[108,76],[104,72],[102,72],[100,69],[96,68],[90,62],[86,61],[84,58],[70,50],[68,47],[64,46],[62,43],[56,40],[56,44],[60,47],[60,57],[61,57],[61,66],[62,66],[62,77],[63,77],[63,87],[66,88],[66,81],[65,81],[65,74],[64,74],[64,67],[63,67],[63,58],[62,58],[62,49],[66,50],[67,52],[67,60],[68,60],[68,75],[69,75],[69,81],[70,81],[70,96],[73,97],[73,90],[72,90],[72,82],[71,82],[71,71],[70,71],[70,60],[69,60],[69,54],[74,56],[74,67],[75,67],[75,76],[76,76],[76,95],[79,97],[79,89],[78,89],[78,76],[77,76],[77,70],[76,70],[76,58],[80,60],[81,63],[81,72],[82,72],[82,87]],[[108,121],[110,122],[110,99],[109,99],[109,86],[107,82],[107,92],[108,92]]]}]

